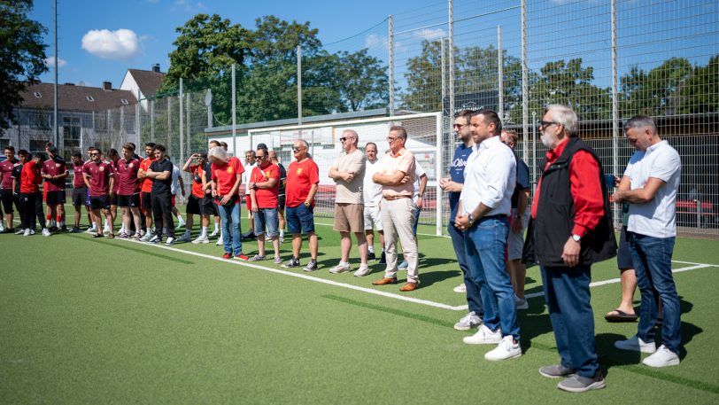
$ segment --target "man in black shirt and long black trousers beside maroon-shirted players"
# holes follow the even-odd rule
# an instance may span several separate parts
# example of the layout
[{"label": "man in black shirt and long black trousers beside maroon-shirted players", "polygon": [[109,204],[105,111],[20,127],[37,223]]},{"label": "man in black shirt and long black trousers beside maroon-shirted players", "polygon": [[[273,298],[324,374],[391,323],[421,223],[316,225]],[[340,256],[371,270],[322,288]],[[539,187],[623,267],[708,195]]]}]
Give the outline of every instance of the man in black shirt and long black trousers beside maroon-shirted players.
[{"label": "man in black shirt and long black trousers beside maroon-shirted players", "polygon": [[170,186],[173,182],[173,163],[165,157],[166,148],[156,144],[154,148],[155,161],[147,170],[147,177],[152,179],[152,215],[155,219],[155,236],[150,239],[151,243],[162,241],[163,223],[167,230],[166,245],[174,243],[174,221],[172,213],[172,194]]}]

